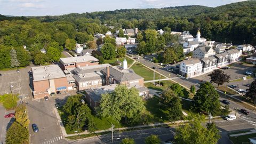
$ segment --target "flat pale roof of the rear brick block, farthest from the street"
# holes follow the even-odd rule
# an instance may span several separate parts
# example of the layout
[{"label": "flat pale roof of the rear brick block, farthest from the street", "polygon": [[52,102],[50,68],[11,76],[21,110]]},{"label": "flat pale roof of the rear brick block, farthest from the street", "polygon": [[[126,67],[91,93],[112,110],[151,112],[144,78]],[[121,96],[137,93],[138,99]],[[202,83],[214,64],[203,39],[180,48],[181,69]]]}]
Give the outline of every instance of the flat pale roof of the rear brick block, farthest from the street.
[{"label": "flat pale roof of the rear brick block, farthest from the street", "polygon": [[80,63],[80,62],[88,62],[93,60],[98,60],[98,59],[92,57],[91,55],[84,55],[81,57],[60,58],[60,61],[62,63]]}]

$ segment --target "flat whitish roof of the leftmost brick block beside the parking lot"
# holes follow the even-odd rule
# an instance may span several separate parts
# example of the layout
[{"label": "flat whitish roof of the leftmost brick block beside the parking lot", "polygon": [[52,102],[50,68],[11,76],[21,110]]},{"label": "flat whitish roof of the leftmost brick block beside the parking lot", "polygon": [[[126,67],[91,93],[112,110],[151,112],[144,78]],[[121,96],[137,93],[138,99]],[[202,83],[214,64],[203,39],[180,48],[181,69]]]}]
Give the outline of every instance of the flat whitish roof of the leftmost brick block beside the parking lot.
[{"label": "flat whitish roof of the leftmost brick block beside the parking lot", "polygon": [[66,77],[58,65],[32,67],[33,81]]}]

